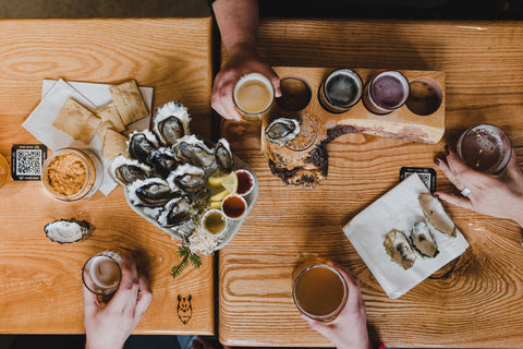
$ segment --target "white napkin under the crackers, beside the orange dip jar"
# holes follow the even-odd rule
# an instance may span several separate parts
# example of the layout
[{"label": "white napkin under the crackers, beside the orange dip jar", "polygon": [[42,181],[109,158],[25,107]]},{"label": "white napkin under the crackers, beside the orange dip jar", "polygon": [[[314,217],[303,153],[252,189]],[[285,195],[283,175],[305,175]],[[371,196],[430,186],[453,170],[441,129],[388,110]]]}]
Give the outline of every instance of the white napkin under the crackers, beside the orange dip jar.
[{"label": "white napkin under the crackers, beside the orange dip jar", "polygon": [[[110,161],[101,156],[102,142],[98,135],[95,134],[89,144],[72,139],[69,134],[52,127],[52,122],[62,110],[65,101],[73,97],[85,107],[96,109],[111,101],[108,84],[92,84],[92,83],[68,83],[63,80],[44,80],[41,89],[41,101],[33,110],[29,117],[22,124],[28,132],[31,132],[38,141],[44,143],[51,151],[58,151],[64,147],[86,148],[93,151],[101,160],[104,166],[104,180],[100,185],[100,191],[105,195],[114,190],[117,183],[107,174],[107,169]],[[153,106],[153,87],[139,87],[142,96],[149,108]],[[127,127],[127,130],[143,130],[149,125],[149,117],[143,118],[133,122]]]}]

